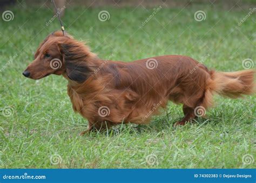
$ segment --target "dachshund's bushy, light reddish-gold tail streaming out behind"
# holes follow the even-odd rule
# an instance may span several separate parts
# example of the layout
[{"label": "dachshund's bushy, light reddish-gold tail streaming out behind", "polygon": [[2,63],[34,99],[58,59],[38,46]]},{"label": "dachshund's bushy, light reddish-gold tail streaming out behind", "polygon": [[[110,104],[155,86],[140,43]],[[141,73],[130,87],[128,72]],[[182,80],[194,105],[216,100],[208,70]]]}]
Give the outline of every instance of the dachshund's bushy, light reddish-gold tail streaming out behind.
[{"label": "dachshund's bushy, light reddish-gold tail streaming out behind", "polygon": [[220,95],[231,98],[250,95],[255,91],[254,74],[253,69],[237,72],[211,72],[212,80],[208,83],[208,87]]}]

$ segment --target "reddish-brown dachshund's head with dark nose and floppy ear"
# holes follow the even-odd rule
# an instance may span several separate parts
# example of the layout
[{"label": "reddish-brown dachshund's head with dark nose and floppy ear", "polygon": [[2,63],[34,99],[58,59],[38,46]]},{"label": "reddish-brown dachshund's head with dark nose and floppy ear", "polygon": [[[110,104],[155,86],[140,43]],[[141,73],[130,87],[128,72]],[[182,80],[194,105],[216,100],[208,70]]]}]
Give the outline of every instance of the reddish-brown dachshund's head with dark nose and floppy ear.
[{"label": "reddish-brown dachshund's head with dark nose and floppy ear", "polygon": [[95,58],[89,48],[61,31],[49,34],[39,45],[35,59],[23,72],[31,79],[41,79],[50,74],[64,75],[70,80],[83,82],[92,72],[87,61]]}]

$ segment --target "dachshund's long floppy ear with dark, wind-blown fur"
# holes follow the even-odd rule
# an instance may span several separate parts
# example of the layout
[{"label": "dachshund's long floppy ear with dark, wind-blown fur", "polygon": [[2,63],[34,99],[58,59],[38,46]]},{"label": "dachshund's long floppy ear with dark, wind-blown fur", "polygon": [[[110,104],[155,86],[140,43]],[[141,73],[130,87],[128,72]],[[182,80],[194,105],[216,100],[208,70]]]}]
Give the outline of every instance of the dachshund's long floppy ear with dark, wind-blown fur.
[{"label": "dachshund's long floppy ear with dark, wind-blown fur", "polygon": [[92,71],[86,65],[87,55],[83,53],[83,48],[76,44],[60,44],[59,48],[66,68],[66,75],[70,80],[84,82]]}]

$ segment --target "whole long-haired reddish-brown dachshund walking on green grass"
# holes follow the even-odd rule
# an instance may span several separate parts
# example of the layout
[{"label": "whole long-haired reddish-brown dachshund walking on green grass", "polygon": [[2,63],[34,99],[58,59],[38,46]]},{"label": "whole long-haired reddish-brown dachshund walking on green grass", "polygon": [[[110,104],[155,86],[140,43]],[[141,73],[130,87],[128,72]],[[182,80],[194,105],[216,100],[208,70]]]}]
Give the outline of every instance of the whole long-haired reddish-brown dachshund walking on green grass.
[{"label": "whole long-haired reddish-brown dachshund walking on green grass", "polygon": [[184,118],[174,125],[184,125],[205,115],[214,93],[237,98],[252,94],[255,86],[254,70],[209,71],[181,55],[133,62],[102,60],[61,31],[46,37],[23,72],[35,80],[50,74],[68,80],[73,110],[89,121],[86,131],[128,122],[146,124],[169,100],[183,104]]}]

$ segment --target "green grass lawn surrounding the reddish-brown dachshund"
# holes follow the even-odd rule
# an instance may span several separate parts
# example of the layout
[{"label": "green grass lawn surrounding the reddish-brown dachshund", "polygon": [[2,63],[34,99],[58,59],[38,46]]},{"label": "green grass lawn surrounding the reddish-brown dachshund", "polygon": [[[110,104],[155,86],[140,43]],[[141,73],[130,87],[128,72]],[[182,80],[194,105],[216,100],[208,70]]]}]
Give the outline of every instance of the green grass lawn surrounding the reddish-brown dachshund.
[{"label": "green grass lawn surrounding the reddish-brown dachshund", "polygon": [[[231,8],[163,6],[143,26],[152,8],[85,10],[75,6],[66,9],[63,22],[67,31],[86,40],[103,59],[112,55],[112,60],[132,61],[181,54],[228,72],[244,69],[242,60],[256,60],[255,12],[238,26],[250,10]],[[17,5],[8,10],[14,19],[0,19],[0,167],[256,167],[255,95],[237,100],[215,96],[215,108],[207,111],[208,119],[199,118],[194,125],[174,129],[172,124],[183,113],[181,105],[170,102],[149,125],[119,125],[80,137],[87,121],[73,112],[67,81],[56,75],[37,81],[22,75],[39,43],[60,29],[57,18],[46,26],[52,11],[45,6]],[[105,22],[98,19],[102,10],[110,13]],[[198,10],[206,15],[201,22],[194,19]],[[10,57],[15,58],[10,61]]]}]

